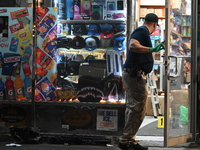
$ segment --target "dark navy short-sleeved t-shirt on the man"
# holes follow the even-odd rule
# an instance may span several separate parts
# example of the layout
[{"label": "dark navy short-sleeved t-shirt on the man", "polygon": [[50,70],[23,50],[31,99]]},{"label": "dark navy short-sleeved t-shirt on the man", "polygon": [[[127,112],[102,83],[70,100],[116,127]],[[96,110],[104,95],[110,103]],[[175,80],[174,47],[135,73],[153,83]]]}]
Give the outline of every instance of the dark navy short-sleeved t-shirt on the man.
[{"label": "dark navy short-sleeved t-shirt on the man", "polygon": [[[146,47],[152,47],[149,30],[145,26],[136,28],[132,34],[131,39],[136,39],[141,45]],[[149,73],[153,68],[153,56],[152,53],[135,53],[130,50],[127,52],[124,68],[132,68],[133,65],[138,65],[145,73]]]}]

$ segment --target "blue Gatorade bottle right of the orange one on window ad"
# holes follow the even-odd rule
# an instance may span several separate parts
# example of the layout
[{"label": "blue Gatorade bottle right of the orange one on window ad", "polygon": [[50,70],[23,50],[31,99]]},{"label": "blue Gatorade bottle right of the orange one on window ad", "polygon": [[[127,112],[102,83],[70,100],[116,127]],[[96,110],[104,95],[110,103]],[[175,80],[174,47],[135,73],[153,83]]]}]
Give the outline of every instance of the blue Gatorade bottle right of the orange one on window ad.
[{"label": "blue Gatorade bottle right of the orange one on window ad", "polygon": [[32,99],[32,80],[31,80],[29,74],[25,74],[24,89],[25,89],[26,99],[31,100]]}]

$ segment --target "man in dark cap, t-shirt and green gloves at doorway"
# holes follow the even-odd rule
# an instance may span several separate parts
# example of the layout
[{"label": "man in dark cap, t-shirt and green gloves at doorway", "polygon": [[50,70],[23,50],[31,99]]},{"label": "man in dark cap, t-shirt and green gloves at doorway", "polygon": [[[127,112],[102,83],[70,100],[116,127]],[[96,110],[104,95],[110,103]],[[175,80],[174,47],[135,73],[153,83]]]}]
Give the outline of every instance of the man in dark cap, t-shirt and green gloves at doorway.
[{"label": "man in dark cap, t-shirt and green gloves at doorway", "polygon": [[118,147],[122,150],[147,150],[135,140],[146,112],[148,88],[146,75],[152,71],[152,52],[164,49],[164,41],[152,48],[150,34],[158,26],[158,16],[149,13],[142,26],[136,28],[129,41],[127,58],[122,72],[122,82],[126,91],[125,126]]}]

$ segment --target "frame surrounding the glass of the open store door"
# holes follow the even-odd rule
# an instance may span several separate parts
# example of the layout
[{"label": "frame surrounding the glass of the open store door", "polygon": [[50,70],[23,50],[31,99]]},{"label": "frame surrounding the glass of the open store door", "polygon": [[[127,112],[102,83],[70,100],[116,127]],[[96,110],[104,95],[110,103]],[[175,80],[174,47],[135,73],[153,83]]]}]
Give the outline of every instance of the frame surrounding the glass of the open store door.
[{"label": "frame surrounding the glass of the open store door", "polygon": [[191,42],[191,49],[193,50],[191,54],[191,88],[190,88],[190,95],[189,98],[191,99],[191,105],[190,107],[192,109],[189,109],[190,112],[190,127],[191,127],[191,133],[187,135],[181,135],[177,137],[169,137],[169,125],[170,125],[170,118],[168,117],[169,114],[169,87],[170,87],[170,81],[168,80],[168,75],[169,75],[169,51],[168,49],[170,48],[170,30],[168,30],[169,24],[170,24],[170,1],[171,0],[166,0],[166,24],[165,24],[165,41],[166,41],[166,52],[165,52],[165,101],[164,101],[164,146],[165,147],[170,147],[170,146],[175,146],[175,145],[180,145],[184,144],[187,142],[195,141],[196,140],[196,132],[197,132],[197,1],[198,0],[191,0],[191,7],[192,7],[192,42]]}]

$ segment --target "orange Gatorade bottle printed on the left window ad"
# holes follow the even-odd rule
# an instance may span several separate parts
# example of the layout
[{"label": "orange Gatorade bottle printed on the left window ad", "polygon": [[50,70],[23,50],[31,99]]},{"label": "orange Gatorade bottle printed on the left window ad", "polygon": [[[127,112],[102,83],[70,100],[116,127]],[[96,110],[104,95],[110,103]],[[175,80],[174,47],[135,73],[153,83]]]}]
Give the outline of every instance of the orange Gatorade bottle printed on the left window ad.
[{"label": "orange Gatorade bottle printed on the left window ad", "polygon": [[15,87],[16,100],[19,101],[26,100],[24,94],[24,83],[23,80],[20,78],[20,75],[15,76],[14,87]]}]

